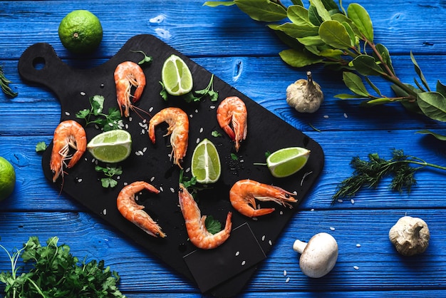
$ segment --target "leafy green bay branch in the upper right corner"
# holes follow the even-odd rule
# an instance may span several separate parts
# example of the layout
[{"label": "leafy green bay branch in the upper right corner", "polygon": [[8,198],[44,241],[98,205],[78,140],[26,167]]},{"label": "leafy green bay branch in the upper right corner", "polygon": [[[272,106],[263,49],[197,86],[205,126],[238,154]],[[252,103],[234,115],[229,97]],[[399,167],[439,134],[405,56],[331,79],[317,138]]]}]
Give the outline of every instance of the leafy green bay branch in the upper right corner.
[{"label": "leafy green bay branch in the upper right corner", "polygon": [[[360,98],[364,106],[400,102],[410,111],[446,121],[446,86],[437,81],[436,91],[432,91],[412,53],[420,82],[416,78],[415,86],[401,82],[388,49],[374,43],[373,24],[363,6],[353,3],[344,9],[341,0],[339,6],[333,0],[310,0],[306,9],[301,0],[291,2],[294,5],[289,7],[279,0],[207,1],[204,5],[236,5],[256,21],[272,23],[287,18],[283,24],[268,25],[290,47],[279,53],[282,60],[297,68],[323,63],[343,70],[343,81],[353,94],[338,94],[336,98]],[[395,96],[381,93],[370,76],[390,81]]]}]

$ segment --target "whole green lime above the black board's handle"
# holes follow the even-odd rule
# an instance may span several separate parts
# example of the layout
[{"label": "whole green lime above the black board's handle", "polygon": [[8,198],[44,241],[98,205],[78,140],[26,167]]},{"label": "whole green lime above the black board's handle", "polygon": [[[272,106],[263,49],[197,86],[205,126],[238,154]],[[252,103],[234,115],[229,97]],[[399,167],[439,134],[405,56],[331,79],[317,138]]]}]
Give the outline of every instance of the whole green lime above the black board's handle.
[{"label": "whole green lime above the black board's handle", "polygon": [[102,41],[103,31],[97,16],[86,10],[71,11],[58,30],[63,46],[72,53],[91,53]]}]

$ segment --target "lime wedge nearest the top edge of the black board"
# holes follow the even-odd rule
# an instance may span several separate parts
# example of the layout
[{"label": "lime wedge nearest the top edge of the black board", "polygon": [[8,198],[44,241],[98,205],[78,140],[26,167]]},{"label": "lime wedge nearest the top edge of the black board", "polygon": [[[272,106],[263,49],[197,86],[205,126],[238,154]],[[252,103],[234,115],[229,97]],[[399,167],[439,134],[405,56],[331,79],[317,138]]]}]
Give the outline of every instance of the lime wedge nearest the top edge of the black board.
[{"label": "lime wedge nearest the top edge of the black board", "polygon": [[182,58],[172,54],[164,61],[161,80],[165,90],[172,96],[182,96],[192,91],[194,82],[189,67]]}]

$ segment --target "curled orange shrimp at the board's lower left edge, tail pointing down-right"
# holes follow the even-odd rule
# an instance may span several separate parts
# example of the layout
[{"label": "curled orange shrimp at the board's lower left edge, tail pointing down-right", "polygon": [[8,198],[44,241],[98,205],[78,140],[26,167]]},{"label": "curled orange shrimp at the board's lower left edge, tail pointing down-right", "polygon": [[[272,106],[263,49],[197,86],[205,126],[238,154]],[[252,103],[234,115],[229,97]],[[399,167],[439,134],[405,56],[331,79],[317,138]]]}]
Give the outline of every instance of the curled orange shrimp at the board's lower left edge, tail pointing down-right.
[{"label": "curled orange shrimp at the board's lower left edge, tail pointing down-right", "polygon": [[119,192],[118,200],[116,200],[119,212],[126,220],[133,222],[147,234],[152,235],[153,237],[166,237],[165,233],[162,232],[161,227],[157,225],[155,220],[152,220],[152,217],[142,210],[144,209],[144,206],[138,205],[135,202],[135,194],[141,190],[149,190],[150,192],[155,193],[160,192],[160,190],[157,190],[153,185],[144,181],[136,181],[126,185]]}]

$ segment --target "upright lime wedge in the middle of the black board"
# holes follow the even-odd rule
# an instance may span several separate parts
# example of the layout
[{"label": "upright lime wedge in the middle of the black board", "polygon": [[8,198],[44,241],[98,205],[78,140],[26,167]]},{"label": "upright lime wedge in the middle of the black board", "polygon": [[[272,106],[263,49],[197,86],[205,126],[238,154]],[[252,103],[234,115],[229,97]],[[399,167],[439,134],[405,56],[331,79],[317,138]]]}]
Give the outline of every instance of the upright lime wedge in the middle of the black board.
[{"label": "upright lime wedge in the middle of the black board", "polygon": [[207,138],[195,147],[190,170],[198,183],[215,183],[220,178],[222,166],[220,165],[218,151]]}]

